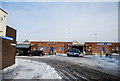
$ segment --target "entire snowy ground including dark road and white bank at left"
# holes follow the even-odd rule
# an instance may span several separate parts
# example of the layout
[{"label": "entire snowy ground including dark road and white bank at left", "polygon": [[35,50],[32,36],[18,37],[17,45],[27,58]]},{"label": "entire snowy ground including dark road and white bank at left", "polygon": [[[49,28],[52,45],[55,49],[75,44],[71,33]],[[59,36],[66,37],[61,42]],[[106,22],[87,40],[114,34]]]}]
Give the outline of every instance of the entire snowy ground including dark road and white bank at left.
[{"label": "entire snowy ground including dark road and white bank at left", "polygon": [[[62,76],[61,73],[63,74]],[[111,78],[114,80],[118,77],[119,70],[118,60],[106,58],[105,56],[67,57],[66,54],[62,54],[43,57],[17,56],[16,64],[12,69],[4,69],[3,75],[5,79],[76,78],[89,81],[91,78],[97,80]]]}]

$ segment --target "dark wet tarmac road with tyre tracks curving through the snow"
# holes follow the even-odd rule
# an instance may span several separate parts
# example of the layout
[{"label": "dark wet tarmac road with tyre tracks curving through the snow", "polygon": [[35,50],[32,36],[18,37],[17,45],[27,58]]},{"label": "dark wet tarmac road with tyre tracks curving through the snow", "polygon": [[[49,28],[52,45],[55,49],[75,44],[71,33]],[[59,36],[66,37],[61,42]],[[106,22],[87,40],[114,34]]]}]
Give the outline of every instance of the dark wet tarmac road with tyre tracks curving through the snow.
[{"label": "dark wet tarmac road with tyre tracks curving through the snow", "polygon": [[[19,57],[20,58],[20,57]],[[22,58],[29,59],[37,62],[44,62],[58,72],[63,80],[77,80],[77,81],[119,81],[119,77],[106,74],[81,64],[74,64],[71,62],[62,61],[59,59],[48,59],[48,58]]]}]

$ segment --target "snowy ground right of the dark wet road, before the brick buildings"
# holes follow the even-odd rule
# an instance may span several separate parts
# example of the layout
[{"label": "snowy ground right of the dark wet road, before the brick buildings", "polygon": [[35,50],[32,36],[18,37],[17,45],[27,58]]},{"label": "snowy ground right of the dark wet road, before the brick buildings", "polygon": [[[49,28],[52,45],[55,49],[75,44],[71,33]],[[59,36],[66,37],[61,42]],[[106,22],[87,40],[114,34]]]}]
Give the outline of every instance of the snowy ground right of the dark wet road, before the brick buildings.
[{"label": "snowy ground right of the dark wet road, before the brick buildings", "polygon": [[102,71],[108,74],[118,76],[118,61],[115,59],[106,58],[105,56],[92,56],[85,55],[84,57],[67,57],[65,54],[63,55],[54,55],[51,57],[44,57],[47,59],[56,59],[66,62],[72,62],[75,64],[80,64],[81,66],[86,66],[98,71]]}]

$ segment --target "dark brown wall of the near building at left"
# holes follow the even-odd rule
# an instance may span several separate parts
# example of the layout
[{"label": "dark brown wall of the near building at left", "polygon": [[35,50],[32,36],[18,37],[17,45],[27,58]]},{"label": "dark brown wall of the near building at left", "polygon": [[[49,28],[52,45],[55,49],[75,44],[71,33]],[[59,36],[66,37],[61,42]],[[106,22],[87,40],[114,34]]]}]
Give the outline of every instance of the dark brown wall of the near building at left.
[{"label": "dark brown wall of the near building at left", "polygon": [[11,44],[16,44],[16,30],[7,26],[6,36],[10,36],[13,40],[1,39],[0,45],[2,48],[2,69],[11,66],[15,63],[16,47]]}]

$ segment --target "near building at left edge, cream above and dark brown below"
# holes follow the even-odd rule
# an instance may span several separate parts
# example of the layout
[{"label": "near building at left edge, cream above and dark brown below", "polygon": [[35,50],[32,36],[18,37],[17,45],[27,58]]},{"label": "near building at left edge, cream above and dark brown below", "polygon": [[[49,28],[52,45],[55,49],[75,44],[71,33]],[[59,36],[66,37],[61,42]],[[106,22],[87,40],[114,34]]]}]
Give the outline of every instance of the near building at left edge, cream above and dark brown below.
[{"label": "near building at left edge, cream above and dark brown below", "polygon": [[0,9],[0,70],[15,63],[16,30],[6,26],[7,13]]}]

